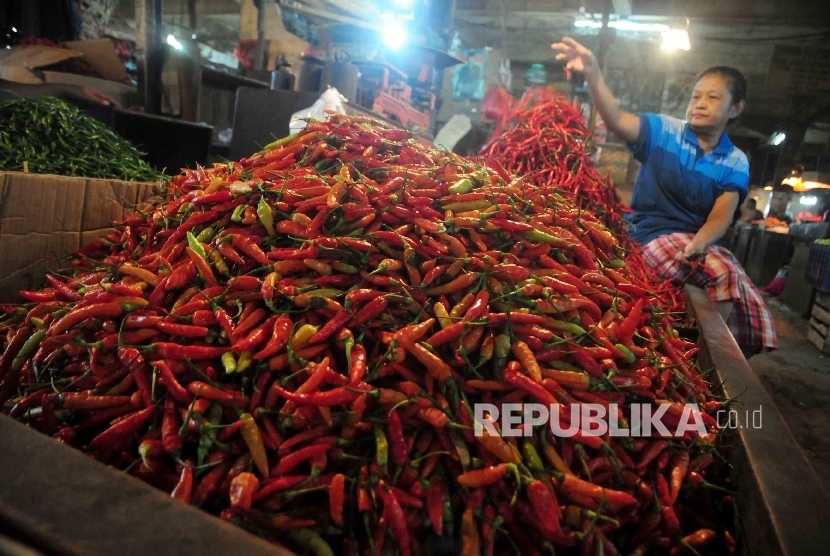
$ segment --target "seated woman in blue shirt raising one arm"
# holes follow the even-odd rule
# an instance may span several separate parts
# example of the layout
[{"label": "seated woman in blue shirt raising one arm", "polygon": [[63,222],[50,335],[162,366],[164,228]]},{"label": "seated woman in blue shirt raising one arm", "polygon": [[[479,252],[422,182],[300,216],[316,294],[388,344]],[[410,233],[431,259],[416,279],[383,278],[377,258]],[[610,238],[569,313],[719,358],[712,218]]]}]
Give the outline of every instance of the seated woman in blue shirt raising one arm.
[{"label": "seated woman in blue shirt raising one arm", "polygon": [[[736,69],[709,68],[695,80],[686,121],[620,109],[594,54],[569,37],[552,45],[557,60],[583,73],[605,125],[642,162],[631,199],[646,260],[665,279],[705,288],[738,345],[749,356],[778,347],[763,298],[740,263],[717,244],[749,183],[749,163],[725,133],[746,103],[746,79]],[[703,259],[703,265],[692,262]]]}]

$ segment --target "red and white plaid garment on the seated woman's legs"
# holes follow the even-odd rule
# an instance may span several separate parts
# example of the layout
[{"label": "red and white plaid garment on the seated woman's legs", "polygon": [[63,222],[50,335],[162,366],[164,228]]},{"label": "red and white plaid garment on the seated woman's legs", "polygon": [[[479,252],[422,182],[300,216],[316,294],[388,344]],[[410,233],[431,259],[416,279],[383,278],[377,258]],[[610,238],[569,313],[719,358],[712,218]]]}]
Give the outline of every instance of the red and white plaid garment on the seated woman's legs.
[{"label": "red and white plaid garment on the seated woman's legs", "polygon": [[775,324],[764,299],[728,249],[709,247],[705,262],[699,266],[681,265],[674,260],[694,234],[675,233],[660,236],[643,247],[643,256],[666,280],[688,282],[703,288],[713,302],[734,301],[726,323],[740,346],[778,349]]}]

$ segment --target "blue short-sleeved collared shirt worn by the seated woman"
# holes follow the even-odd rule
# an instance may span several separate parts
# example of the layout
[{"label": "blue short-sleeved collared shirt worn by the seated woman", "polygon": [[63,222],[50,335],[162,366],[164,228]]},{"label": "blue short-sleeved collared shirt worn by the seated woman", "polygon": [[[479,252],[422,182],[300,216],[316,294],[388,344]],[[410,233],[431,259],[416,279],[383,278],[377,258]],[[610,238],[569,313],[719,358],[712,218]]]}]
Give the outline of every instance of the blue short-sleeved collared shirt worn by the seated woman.
[{"label": "blue short-sleeved collared shirt worn by the seated woman", "polygon": [[685,121],[642,114],[631,153],[643,163],[631,197],[636,226],[631,236],[638,243],[675,232],[697,233],[726,191],[737,191],[740,203],[746,198],[749,162],[726,133],[704,154]]}]

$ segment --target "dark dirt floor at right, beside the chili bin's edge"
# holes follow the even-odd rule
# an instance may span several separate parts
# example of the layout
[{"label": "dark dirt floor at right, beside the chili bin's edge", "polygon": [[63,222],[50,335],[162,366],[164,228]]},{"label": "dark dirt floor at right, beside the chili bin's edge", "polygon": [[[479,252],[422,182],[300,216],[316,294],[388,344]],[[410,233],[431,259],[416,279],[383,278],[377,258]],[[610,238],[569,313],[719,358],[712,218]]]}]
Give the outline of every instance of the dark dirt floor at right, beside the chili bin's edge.
[{"label": "dark dirt floor at right, beside the chili bin's edge", "polygon": [[775,319],[777,351],[749,359],[830,492],[830,356],[807,340],[807,320],[764,296]]}]

